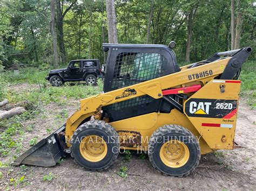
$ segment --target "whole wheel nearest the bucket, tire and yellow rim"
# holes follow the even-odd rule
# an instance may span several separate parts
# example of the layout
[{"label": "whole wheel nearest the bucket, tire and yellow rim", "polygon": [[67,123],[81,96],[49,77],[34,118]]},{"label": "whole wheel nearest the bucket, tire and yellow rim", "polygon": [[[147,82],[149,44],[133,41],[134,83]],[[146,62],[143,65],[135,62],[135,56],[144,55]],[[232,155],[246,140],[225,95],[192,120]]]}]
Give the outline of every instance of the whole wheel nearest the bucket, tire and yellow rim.
[{"label": "whole wheel nearest the bucket, tire and yellow rim", "polygon": [[79,126],[71,139],[71,155],[86,169],[104,171],[119,154],[117,131],[105,121],[89,121]]}]

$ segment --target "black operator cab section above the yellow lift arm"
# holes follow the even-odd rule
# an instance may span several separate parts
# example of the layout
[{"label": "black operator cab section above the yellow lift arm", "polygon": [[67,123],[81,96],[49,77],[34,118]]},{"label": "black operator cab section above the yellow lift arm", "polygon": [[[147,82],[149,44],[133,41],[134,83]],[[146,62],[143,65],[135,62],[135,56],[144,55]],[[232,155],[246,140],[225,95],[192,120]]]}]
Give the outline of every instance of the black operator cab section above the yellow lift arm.
[{"label": "black operator cab section above the yellow lift arm", "polygon": [[176,55],[165,45],[103,44],[108,51],[104,92],[179,72]]}]

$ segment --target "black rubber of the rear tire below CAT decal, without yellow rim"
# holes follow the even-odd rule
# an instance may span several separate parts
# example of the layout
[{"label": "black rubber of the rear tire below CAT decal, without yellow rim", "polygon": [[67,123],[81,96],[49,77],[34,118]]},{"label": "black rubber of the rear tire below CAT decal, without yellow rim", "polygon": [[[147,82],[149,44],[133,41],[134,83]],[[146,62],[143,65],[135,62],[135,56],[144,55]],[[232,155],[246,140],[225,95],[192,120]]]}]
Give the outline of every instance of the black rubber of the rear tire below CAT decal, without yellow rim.
[{"label": "black rubber of the rear tire below CAT decal, without yellow rim", "polygon": [[[189,151],[189,157],[187,157],[187,161],[185,161],[186,163],[183,166],[170,167],[164,164],[164,162],[161,160],[160,151],[166,151],[161,150],[161,146],[164,144],[166,145],[166,142],[170,143],[168,140],[180,140],[181,144],[185,144],[185,147],[188,148],[187,151]],[[165,148],[166,147],[164,147],[164,149]],[[200,145],[197,138],[194,137],[189,130],[179,125],[165,125],[154,131],[150,137],[148,154],[152,166],[158,171],[164,175],[173,175],[179,177],[186,176],[194,171],[194,169],[198,166],[201,157]],[[179,163],[177,162],[177,165],[178,164]]]}]

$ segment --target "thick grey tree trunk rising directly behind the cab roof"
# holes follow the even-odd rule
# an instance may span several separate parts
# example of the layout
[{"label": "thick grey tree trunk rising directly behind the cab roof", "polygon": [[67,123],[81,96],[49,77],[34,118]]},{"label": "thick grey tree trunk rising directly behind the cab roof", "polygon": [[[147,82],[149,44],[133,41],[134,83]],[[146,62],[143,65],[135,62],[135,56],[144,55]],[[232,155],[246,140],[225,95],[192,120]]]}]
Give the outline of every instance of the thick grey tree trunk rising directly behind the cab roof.
[{"label": "thick grey tree trunk rising directly behind the cab roof", "polygon": [[109,34],[109,43],[118,43],[116,10],[114,9],[114,0],[106,0],[107,25]]}]

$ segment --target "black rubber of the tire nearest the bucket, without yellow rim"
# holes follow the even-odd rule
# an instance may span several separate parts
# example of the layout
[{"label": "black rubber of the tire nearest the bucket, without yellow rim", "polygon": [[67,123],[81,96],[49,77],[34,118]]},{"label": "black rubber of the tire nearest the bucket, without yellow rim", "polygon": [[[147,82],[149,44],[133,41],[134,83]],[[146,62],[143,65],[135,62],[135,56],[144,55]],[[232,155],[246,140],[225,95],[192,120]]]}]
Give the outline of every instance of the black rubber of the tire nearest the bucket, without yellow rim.
[{"label": "black rubber of the tire nearest the bucket, without yellow rim", "polygon": [[[80,153],[80,144],[85,137],[96,135],[105,141],[107,145],[107,152],[105,157],[96,162],[86,160]],[[105,121],[89,121],[79,126],[79,128],[73,133],[71,139],[71,156],[75,158],[78,164],[82,165],[86,169],[94,171],[104,171],[113,165],[119,154],[119,139],[117,131],[110,124]]]}]

